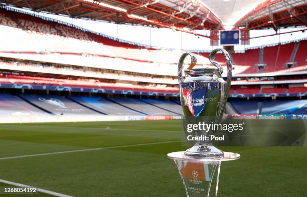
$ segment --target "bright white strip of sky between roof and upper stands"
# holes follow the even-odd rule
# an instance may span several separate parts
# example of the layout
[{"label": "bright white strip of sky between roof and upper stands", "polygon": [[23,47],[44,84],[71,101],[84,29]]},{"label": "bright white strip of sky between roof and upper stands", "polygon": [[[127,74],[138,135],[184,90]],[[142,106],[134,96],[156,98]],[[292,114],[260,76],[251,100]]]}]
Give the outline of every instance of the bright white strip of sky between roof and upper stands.
[{"label": "bright white strip of sky between roof and upper stands", "polygon": [[[16,8],[15,8],[16,9]],[[29,13],[33,13],[29,10],[23,10]],[[131,26],[131,25],[117,25],[114,23],[89,21],[83,19],[72,19],[69,17],[51,15],[46,13],[35,13],[41,16],[60,20],[69,24],[73,24],[94,32],[102,33],[121,40],[127,40],[135,43],[140,43],[149,46],[168,48],[168,49],[183,49],[183,50],[212,50],[221,46],[210,46],[210,39],[193,34],[183,33],[165,28],[150,28],[143,26]],[[232,26],[228,25],[228,29]],[[278,33],[291,32],[295,30],[302,30],[305,28],[287,28],[278,30]],[[208,30],[197,30],[199,34],[210,36]],[[250,37],[258,37],[264,35],[275,34],[274,30],[251,30]],[[270,45],[279,42],[288,42],[297,39],[307,38],[307,32],[294,32],[289,34],[268,36],[263,38],[255,38],[250,40],[250,45],[236,45],[235,50],[241,51],[244,48],[257,47],[262,45]]]}]

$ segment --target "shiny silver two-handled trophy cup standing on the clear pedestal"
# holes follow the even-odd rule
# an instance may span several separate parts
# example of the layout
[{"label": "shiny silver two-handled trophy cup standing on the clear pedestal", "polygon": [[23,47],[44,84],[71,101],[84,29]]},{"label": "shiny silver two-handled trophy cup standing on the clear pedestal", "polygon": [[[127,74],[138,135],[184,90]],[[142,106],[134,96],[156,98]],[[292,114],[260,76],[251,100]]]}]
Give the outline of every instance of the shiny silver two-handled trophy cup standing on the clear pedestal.
[{"label": "shiny silver two-handled trophy cup standing on the clear pedestal", "polygon": [[[223,68],[215,61],[215,55],[221,51],[227,63],[227,80],[222,78]],[[183,63],[187,56],[191,57],[191,64],[182,75]],[[225,49],[215,49],[209,55],[210,62],[216,68],[197,68],[196,57],[192,53],[184,53],[178,64],[178,80],[180,88],[180,100],[187,120],[189,117],[199,117],[200,121],[220,123],[225,110],[228,92],[231,83],[232,60]],[[212,135],[214,131],[195,133],[196,136]],[[223,151],[212,145],[209,140],[197,141],[196,144],[186,150],[190,156],[223,156]]]}]

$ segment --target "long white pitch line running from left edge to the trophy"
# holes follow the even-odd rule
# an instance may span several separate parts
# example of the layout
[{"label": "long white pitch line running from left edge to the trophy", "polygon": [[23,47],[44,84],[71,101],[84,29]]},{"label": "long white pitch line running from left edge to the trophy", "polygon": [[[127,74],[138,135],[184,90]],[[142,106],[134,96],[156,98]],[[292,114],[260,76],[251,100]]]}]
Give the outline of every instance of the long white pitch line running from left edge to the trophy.
[{"label": "long white pitch line running from left edge to the trophy", "polygon": [[130,144],[130,145],[121,145],[121,146],[108,146],[108,147],[88,148],[88,149],[80,149],[80,150],[68,150],[68,151],[62,151],[62,152],[49,152],[49,153],[41,153],[41,154],[28,154],[28,155],[20,155],[20,156],[12,156],[12,157],[2,157],[0,158],[0,160],[33,157],[33,156],[44,156],[44,155],[52,155],[52,154],[64,154],[64,153],[71,153],[71,152],[83,152],[83,151],[91,151],[91,150],[103,150],[103,149],[111,149],[111,148],[145,146],[145,145],[152,145],[152,144],[166,144],[166,143],[174,143],[174,142],[180,142],[180,140],[179,141],[152,142],[152,143],[143,143],[143,144]]}]

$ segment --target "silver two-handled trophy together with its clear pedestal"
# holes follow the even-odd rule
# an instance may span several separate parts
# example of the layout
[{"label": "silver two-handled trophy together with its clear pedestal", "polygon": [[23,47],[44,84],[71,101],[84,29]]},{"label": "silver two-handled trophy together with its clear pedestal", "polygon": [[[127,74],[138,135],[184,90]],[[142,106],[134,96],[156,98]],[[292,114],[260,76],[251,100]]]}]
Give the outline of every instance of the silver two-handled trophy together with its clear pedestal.
[{"label": "silver two-handled trophy together with its clear pedestal", "polygon": [[[227,63],[227,80],[223,80],[223,68],[215,61],[215,55],[221,51]],[[187,56],[191,64],[182,75],[183,63]],[[209,55],[210,62],[217,68],[198,68],[196,57],[184,53],[178,64],[178,80],[181,105],[186,117],[198,118],[198,121],[220,123],[225,110],[231,83],[232,60],[224,49],[215,49]],[[189,119],[190,118],[190,119]],[[209,132],[195,131],[195,136],[214,135]],[[186,151],[172,152],[168,157],[174,159],[183,180],[188,197],[217,196],[221,161],[239,159],[237,153],[223,152],[213,146],[210,140],[199,140]],[[215,188],[214,186],[215,185]],[[210,190],[214,190],[210,192]]]}]

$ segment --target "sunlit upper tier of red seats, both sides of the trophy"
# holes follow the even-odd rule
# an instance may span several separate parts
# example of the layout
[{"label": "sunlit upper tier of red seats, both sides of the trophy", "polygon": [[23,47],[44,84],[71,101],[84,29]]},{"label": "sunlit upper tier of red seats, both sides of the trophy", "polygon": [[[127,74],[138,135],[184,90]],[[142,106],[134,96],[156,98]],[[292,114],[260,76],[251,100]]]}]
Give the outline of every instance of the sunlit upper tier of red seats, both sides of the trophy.
[{"label": "sunlit upper tier of red seats, both sides of the trophy", "polygon": [[[176,76],[176,64],[182,54],[182,51],[137,49],[135,45],[117,42],[92,32],[5,9],[0,9],[0,26],[0,33],[7,35],[7,39],[4,39],[0,45],[0,52],[20,52],[19,56],[24,55],[25,52],[38,52],[43,55],[34,57],[29,53],[27,56],[19,57],[24,59],[40,58],[61,61],[62,64],[72,62],[73,65],[82,63],[80,66],[96,65],[94,67],[112,67],[114,70],[129,67],[128,71],[132,72]],[[289,61],[293,47],[294,43],[265,47],[263,63],[267,64],[267,67],[263,69],[263,72],[286,70],[284,63]],[[307,65],[306,53],[304,53],[306,47],[306,41],[300,41],[294,56],[298,66]],[[70,56],[67,57],[69,54]],[[243,54],[233,53],[234,74],[257,73],[255,64],[260,63],[260,54],[259,49],[246,50]],[[55,57],[56,55],[65,55],[65,57],[59,58]],[[81,55],[84,56],[82,61],[79,60]],[[209,54],[201,55],[204,57],[197,57],[199,65],[211,65],[207,58]],[[218,54],[216,59],[221,64],[225,64],[221,54]],[[125,66],[119,66],[122,64],[121,61]],[[299,69],[304,70],[303,67]]]}]

